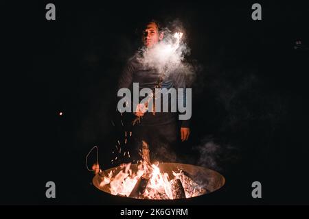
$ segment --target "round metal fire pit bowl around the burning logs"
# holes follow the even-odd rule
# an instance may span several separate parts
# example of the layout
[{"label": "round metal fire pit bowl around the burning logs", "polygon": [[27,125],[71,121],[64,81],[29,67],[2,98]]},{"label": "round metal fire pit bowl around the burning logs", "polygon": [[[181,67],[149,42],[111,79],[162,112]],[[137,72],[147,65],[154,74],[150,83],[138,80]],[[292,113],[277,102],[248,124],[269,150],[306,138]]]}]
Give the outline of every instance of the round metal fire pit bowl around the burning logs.
[{"label": "round metal fire pit bowl around the burning logs", "polygon": [[[130,168],[133,170],[133,172],[137,172],[137,164],[132,164]],[[190,175],[190,178],[195,183],[201,185],[207,191],[205,192],[205,194],[208,194],[209,192],[214,192],[225,184],[225,177],[220,175],[220,173],[202,166],[177,163],[160,163],[159,168],[161,172],[168,173],[170,179],[174,178],[172,171],[179,172],[179,170],[183,170],[188,175]],[[122,170],[122,168],[117,166],[115,168],[105,170],[105,172],[113,171],[113,175],[117,175],[120,170]],[[101,180],[102,178],[100,177],[100,175],[95,175],[95,177],[93,177],[93,185],[95,185],[95,187],[99,190],[111,194],[109,185],[104,185],[103,187],[100,187]]]}]

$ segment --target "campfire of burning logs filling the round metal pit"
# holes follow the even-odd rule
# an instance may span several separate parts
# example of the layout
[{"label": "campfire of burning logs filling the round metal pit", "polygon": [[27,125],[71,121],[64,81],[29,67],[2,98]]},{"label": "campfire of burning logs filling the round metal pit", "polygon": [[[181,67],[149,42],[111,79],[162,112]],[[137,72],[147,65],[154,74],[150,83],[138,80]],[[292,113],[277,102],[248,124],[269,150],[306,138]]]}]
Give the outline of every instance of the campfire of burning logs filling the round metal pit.
[{"label": "campfire of burning logs filling the round metal pit", "polygon": [[141,199],[179,199],[201,196],[222,187],[225,178],[201,166],[176,163],[151,164],[147,147],[137,164],[108,170],[94,165],[93,185],[109,194]]}]

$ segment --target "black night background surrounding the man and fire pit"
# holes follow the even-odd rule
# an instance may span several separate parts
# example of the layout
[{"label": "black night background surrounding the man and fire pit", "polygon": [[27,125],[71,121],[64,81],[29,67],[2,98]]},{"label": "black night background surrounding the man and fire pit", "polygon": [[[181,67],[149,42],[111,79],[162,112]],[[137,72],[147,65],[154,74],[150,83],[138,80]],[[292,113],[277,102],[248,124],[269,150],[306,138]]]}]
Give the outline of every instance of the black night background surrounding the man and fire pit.
[{"label": "black night background surrounding the man and fire pit", "polygon": [[[185,204],[309,203],[308,3],[261,3],[262,21],[251,19],[251,2],[51,1],[56,21],[45,19],[47,3],[5,20],[14,50],[2,92],[1,204],[128,203],[90,185],[85,157],[98,145],[102,168],[119,164],[111,164],[126,129],[115,112],[117,79],[151,18],[181,21],[196,69],[192,135],[175,151],[227,181]],[[56,199],[45,198],[47,181]]]}]

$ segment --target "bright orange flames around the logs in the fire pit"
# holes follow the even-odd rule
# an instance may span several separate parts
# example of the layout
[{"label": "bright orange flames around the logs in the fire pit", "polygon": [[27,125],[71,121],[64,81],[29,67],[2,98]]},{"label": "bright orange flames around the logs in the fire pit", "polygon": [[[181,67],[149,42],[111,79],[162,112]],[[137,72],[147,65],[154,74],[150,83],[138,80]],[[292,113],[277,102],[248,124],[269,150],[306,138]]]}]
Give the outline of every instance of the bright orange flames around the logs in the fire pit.
[{"label": "bright orange flames around the logs in the fire pit", "polygon": [[139,162],[136,172],[133,172],[130,166],[130,163],[122,164],[119,166],[121,170],[116,175],[113,174],[113,171],[109,172],[108,175],[104,175],[100,187],[108,186],[111,194],[128,197],[135,188],[137,181],[146,176],[148,180],[146,190],[138,198],[174,199],[176,198],[174,195],[176,179],[179,179],[183,185],[185,198],[205,194],[205,189],[185,176],[182,170],[179,170],[179,172],[173,171],[174,179],[170,179],[168,173],[160,170],[159,163],[150,165],[147,162]]}]

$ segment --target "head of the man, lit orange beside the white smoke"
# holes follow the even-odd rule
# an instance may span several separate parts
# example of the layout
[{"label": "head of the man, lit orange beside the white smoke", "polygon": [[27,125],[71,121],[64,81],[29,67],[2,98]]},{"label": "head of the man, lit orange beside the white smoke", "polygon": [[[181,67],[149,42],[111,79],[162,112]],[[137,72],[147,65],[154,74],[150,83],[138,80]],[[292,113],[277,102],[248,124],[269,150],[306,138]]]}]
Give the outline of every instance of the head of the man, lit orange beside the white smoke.
[{"label": "head of the man, lit orange beside the white smoke", "polygon": [[157,21],[148,22],[143,30],[142,40],[144,46],[147,48],[152,48],[162,39],[163,32],[160,31],[159,23]]}]

